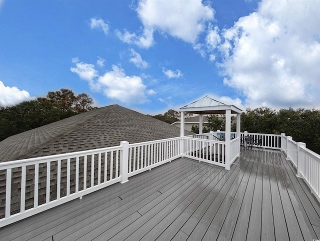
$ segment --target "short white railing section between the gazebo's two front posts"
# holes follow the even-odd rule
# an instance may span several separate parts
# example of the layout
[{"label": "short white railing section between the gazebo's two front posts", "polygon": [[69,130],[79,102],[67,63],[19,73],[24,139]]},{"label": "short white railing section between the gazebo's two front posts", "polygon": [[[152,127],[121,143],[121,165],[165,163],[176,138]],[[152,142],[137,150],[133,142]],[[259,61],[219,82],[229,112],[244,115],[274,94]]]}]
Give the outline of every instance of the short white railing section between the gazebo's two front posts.
[{"label": "short white railing section between the gazebo's two front posts", "polygon": [[224,141],[183,137],[183,146],[183,156],[226,167]]}]

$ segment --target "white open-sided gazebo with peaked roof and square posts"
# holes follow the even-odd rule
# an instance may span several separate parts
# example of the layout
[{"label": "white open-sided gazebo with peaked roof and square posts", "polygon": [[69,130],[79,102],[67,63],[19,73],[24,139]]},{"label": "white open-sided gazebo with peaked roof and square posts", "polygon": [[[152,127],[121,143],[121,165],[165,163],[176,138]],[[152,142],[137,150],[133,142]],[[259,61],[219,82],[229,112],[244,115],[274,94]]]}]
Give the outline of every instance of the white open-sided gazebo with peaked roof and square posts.
[{"label": "white open-sided gazebo with peaked roof and square posts", "polygon": [[[180,136],[184,136],[184,112],[199,114],[199,134],[202,134],[203,114],[225,114],[225,162],[226,169],[230,169],[230,141],[231,141],[231,114],[236,114],[236,138],[240,140],[240,115],[242,110],[234,105],[227,105],[208,96],[204,96],[179,109],[180,111]],[[237,156],[240,154],[240,147],[237,148]]]}]

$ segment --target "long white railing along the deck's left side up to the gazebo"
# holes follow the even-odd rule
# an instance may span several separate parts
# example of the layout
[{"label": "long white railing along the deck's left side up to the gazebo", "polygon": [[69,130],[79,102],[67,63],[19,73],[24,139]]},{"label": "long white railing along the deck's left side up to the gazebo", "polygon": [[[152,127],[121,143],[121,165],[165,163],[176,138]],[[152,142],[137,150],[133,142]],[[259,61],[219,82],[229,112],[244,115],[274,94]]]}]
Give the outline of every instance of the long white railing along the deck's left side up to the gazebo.
[{"label": "long white railing along the deck's left side up to the gazebo", "polygon": [[181,140],[121,141],[114,147],[2,162],[5,207],[0,227],[176,159],[182,156]]}]

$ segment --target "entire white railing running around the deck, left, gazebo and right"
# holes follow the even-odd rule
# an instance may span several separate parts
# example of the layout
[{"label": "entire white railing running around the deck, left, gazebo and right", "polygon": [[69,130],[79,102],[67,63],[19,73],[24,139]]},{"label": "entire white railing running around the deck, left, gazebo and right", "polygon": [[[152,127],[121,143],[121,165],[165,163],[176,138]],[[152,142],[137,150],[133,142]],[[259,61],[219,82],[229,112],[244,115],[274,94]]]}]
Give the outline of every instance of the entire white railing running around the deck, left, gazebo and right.
[{"label": "entire white railing running around the deck, left, gazebo and right", "polygon": [[[114,147],[1,162],[5,206],[0,207],[0,227],[115,182],[123,183],[130,176],[180,156],[229,168],[239,156],[240,137],[231,139],[230,152],[225,153],[225,141],[214,140],[214,134],[202,134],[208,138],[183,136],[132,144],[121,141]],[[284,133],[242,135],[262,138],[265,148],[281,148],[296,166],[297,175],[304,178],[320,200],[318,154]]]}]

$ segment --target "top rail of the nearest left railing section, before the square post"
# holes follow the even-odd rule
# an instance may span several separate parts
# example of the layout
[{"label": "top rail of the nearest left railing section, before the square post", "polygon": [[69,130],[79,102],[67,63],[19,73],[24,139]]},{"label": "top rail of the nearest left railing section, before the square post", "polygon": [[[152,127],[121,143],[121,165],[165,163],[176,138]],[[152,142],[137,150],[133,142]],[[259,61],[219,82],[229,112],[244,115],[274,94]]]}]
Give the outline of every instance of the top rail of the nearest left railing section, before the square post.
[{"label": "top rail of the nearest left railing section, before the square post", "polygon": [[62,154],[56,154],[56,155],[46,155],[46,156],[32,157],[32,158],[26,158],[26,159],[21,159],[21,160],[4,161],[4,162],[0,162],[0,170],[4,170],[7,168],[20,167],[20,166],[25,166],[25,165],[34,165],[34,164],[39,164],[39,163],[45,163],[45,162],[54,161],[54,160],[75,158],[77,156],[98,154],[101,152],[118,150],[120,148],[121,148],[121,146],[117,145],[117,146],[104,147],[104,148],[93,149],[93,150],[92,149],[91,150],[81,150],[81,151],[68,152],[68,153],[62,153]]}]

